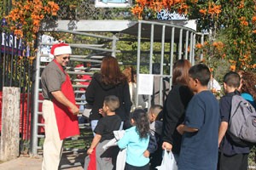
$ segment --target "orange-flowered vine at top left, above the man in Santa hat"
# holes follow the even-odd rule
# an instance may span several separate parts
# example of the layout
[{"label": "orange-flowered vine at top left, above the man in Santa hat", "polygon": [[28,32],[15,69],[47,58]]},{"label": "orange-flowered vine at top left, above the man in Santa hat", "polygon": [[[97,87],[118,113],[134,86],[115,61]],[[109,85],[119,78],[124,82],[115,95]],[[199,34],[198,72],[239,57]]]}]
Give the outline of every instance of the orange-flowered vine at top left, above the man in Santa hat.
[{"label": "orange-flowered vine at top left, above the man in Santa hat", "polygon": [[[58,4],[49,0],[12,1],[12,10],[4,18],[8,26],[5,29],[14,32],[22,38],[29,49],[31,59],[34,59],[34,40],[45,16],[55,16],[59,10]],[[28,51],[26,51],[28,53]]]}]

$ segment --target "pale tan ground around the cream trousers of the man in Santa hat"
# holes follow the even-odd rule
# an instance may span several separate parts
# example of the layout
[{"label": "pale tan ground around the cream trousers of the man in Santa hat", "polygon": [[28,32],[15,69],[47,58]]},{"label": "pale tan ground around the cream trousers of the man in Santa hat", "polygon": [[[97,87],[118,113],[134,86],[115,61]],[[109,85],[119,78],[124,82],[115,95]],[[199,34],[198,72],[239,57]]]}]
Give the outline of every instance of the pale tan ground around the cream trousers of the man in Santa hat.
[{"label": "pale tan ground around the cream trousers of the man in Santa hat", "polygon": [[[41,170],[42,156],[20,156],[0,163],[0,170]],[[61,169],[83,170],[84,154],[61,156]]]}]

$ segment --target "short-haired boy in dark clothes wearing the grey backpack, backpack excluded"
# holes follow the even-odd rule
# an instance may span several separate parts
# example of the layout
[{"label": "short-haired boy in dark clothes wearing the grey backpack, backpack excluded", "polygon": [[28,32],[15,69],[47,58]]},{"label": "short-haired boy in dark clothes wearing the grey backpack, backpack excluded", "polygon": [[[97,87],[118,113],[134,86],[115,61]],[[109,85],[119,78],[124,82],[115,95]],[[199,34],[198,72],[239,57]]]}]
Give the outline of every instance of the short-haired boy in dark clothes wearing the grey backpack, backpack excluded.
[{"label": "short-haired boy in dark clothes wearing the grey backpack, backpack excluded", "polygon": [[236,144],[229,133],[232,98],[240,95],[237,91],[239,86],[240,76],[236,72],[230,71],[224,76],[225,95],[219,101],[221,123],[218,131],[218,170],[247,170],[249,147]]}]

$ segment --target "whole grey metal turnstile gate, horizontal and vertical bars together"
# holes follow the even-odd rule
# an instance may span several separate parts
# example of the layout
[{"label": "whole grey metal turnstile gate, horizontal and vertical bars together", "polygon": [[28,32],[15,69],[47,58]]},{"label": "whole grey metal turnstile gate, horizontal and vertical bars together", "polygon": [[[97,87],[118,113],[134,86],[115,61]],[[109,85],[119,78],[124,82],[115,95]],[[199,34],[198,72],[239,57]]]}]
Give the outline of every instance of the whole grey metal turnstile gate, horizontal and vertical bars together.
[{"label": "whole grey metal turnstile gate, horizontal and vertical bars together", "polygon": [[[102,62],[102,57],[105,54],[112,54],[116,56],[119,52],[116,50],[116,43],[119,40],[117,37],[104,37],[95,34],[83,33],[79,31],[64,31],[62,32],[71,33],[72,35],[79,35],[83,37],[94,37],[101,39],[106,42],[105,44],[69,44],[73,49],[73,54],[71,55],[70,66],[67,67],[67,73],[70,77],[78,74],[92,75],[92,71],[99,71],[99,65]],[[196,32],[193,29],[184,26],[177,26],[163,22],[154,21],[144,21],[139,20],[137,24],[131,26],[121,33],[127,33],[137,36],[137,77],[142,73],[142,68],[147,67],[147,71],[143,70],[145,74],[153,74],[153,65],[155,63],[160,65],[160,73],[154,75],[154,77],[160,77],[160,92],[163,90],[163,79],[165,77],[169,78],[169,89],[172,86],[172,65],[177,59],[189,59],[192,64],[195,63],[194,59],[194,49],[195,49],[195,37]],[[129,40],[128,40],[129,41]],[[143,43],[149,43],[148,52],[144,53],[142,50]],[[44,139],[44,132],[42,133],[42,127],[44,127],[44,122],[42,122],[42,109],[41,105],[43,103],[43,98],[41,96],[42,89],[40,88],[40,74],[44,70],[47,62],[43,62],[42,59],[47,60],[48,54],[42,54],[42,49],[44,46],[51,46],[53,43],[39,43],[38,44],[38,56],[36,60],[36,77],[34,83],[34,94],[33,94],[33,114],[32,114],[32,142],[31,142],[31,153],[33,155],[38,155],[38,150],[42,150],[42,146],[39,142]],[[160,45],[160,51],[155,51],[154,46]],[[188,50],[190,48],[190,50]],[[76,54],[76,49],[86,49],[84,54]],[[142,62],[147,61],[147,65],[142,65]],[[96,67],[90,68],[89,72],[75,71],[75,62],[91,62]],[[85,67],[82,70],[88,69]],[[73,82],[78,82],[79,80],[73,79]],[[140,86],[140,84],[138,84]],[[73,85],[73,88],[85,88],[83,85]],[[81,94],[80,90],[74,90],[75,94]],[[160,99],[162,99],[163,94],[160,93]],[[138,98],[138,96],[137,96]],[[78,105],[84,105],[81,102],[83,99],[76,98]],[[137,99],[138,101],[138,99]],[[151,95],[148,95],[148,101],[151,101]],[[163,101],[159,101],[160,105],[163,105]],[[137,104],[138,105],[138,104]],[[151,103],[148,102],[148,108]]]}]

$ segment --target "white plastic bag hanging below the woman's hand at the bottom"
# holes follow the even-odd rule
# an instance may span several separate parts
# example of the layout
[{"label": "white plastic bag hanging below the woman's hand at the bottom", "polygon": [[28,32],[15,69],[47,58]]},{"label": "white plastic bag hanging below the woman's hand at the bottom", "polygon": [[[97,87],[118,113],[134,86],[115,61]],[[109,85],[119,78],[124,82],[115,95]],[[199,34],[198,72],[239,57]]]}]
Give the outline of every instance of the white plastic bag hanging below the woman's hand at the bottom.
[{"label": "white plastic bag hanging below the woman's hand at the bottom", "polygon": [[174,159],[172,151],[165,150],[161,165],[155,168],[158,170],[177,170],[177,163]]}]

